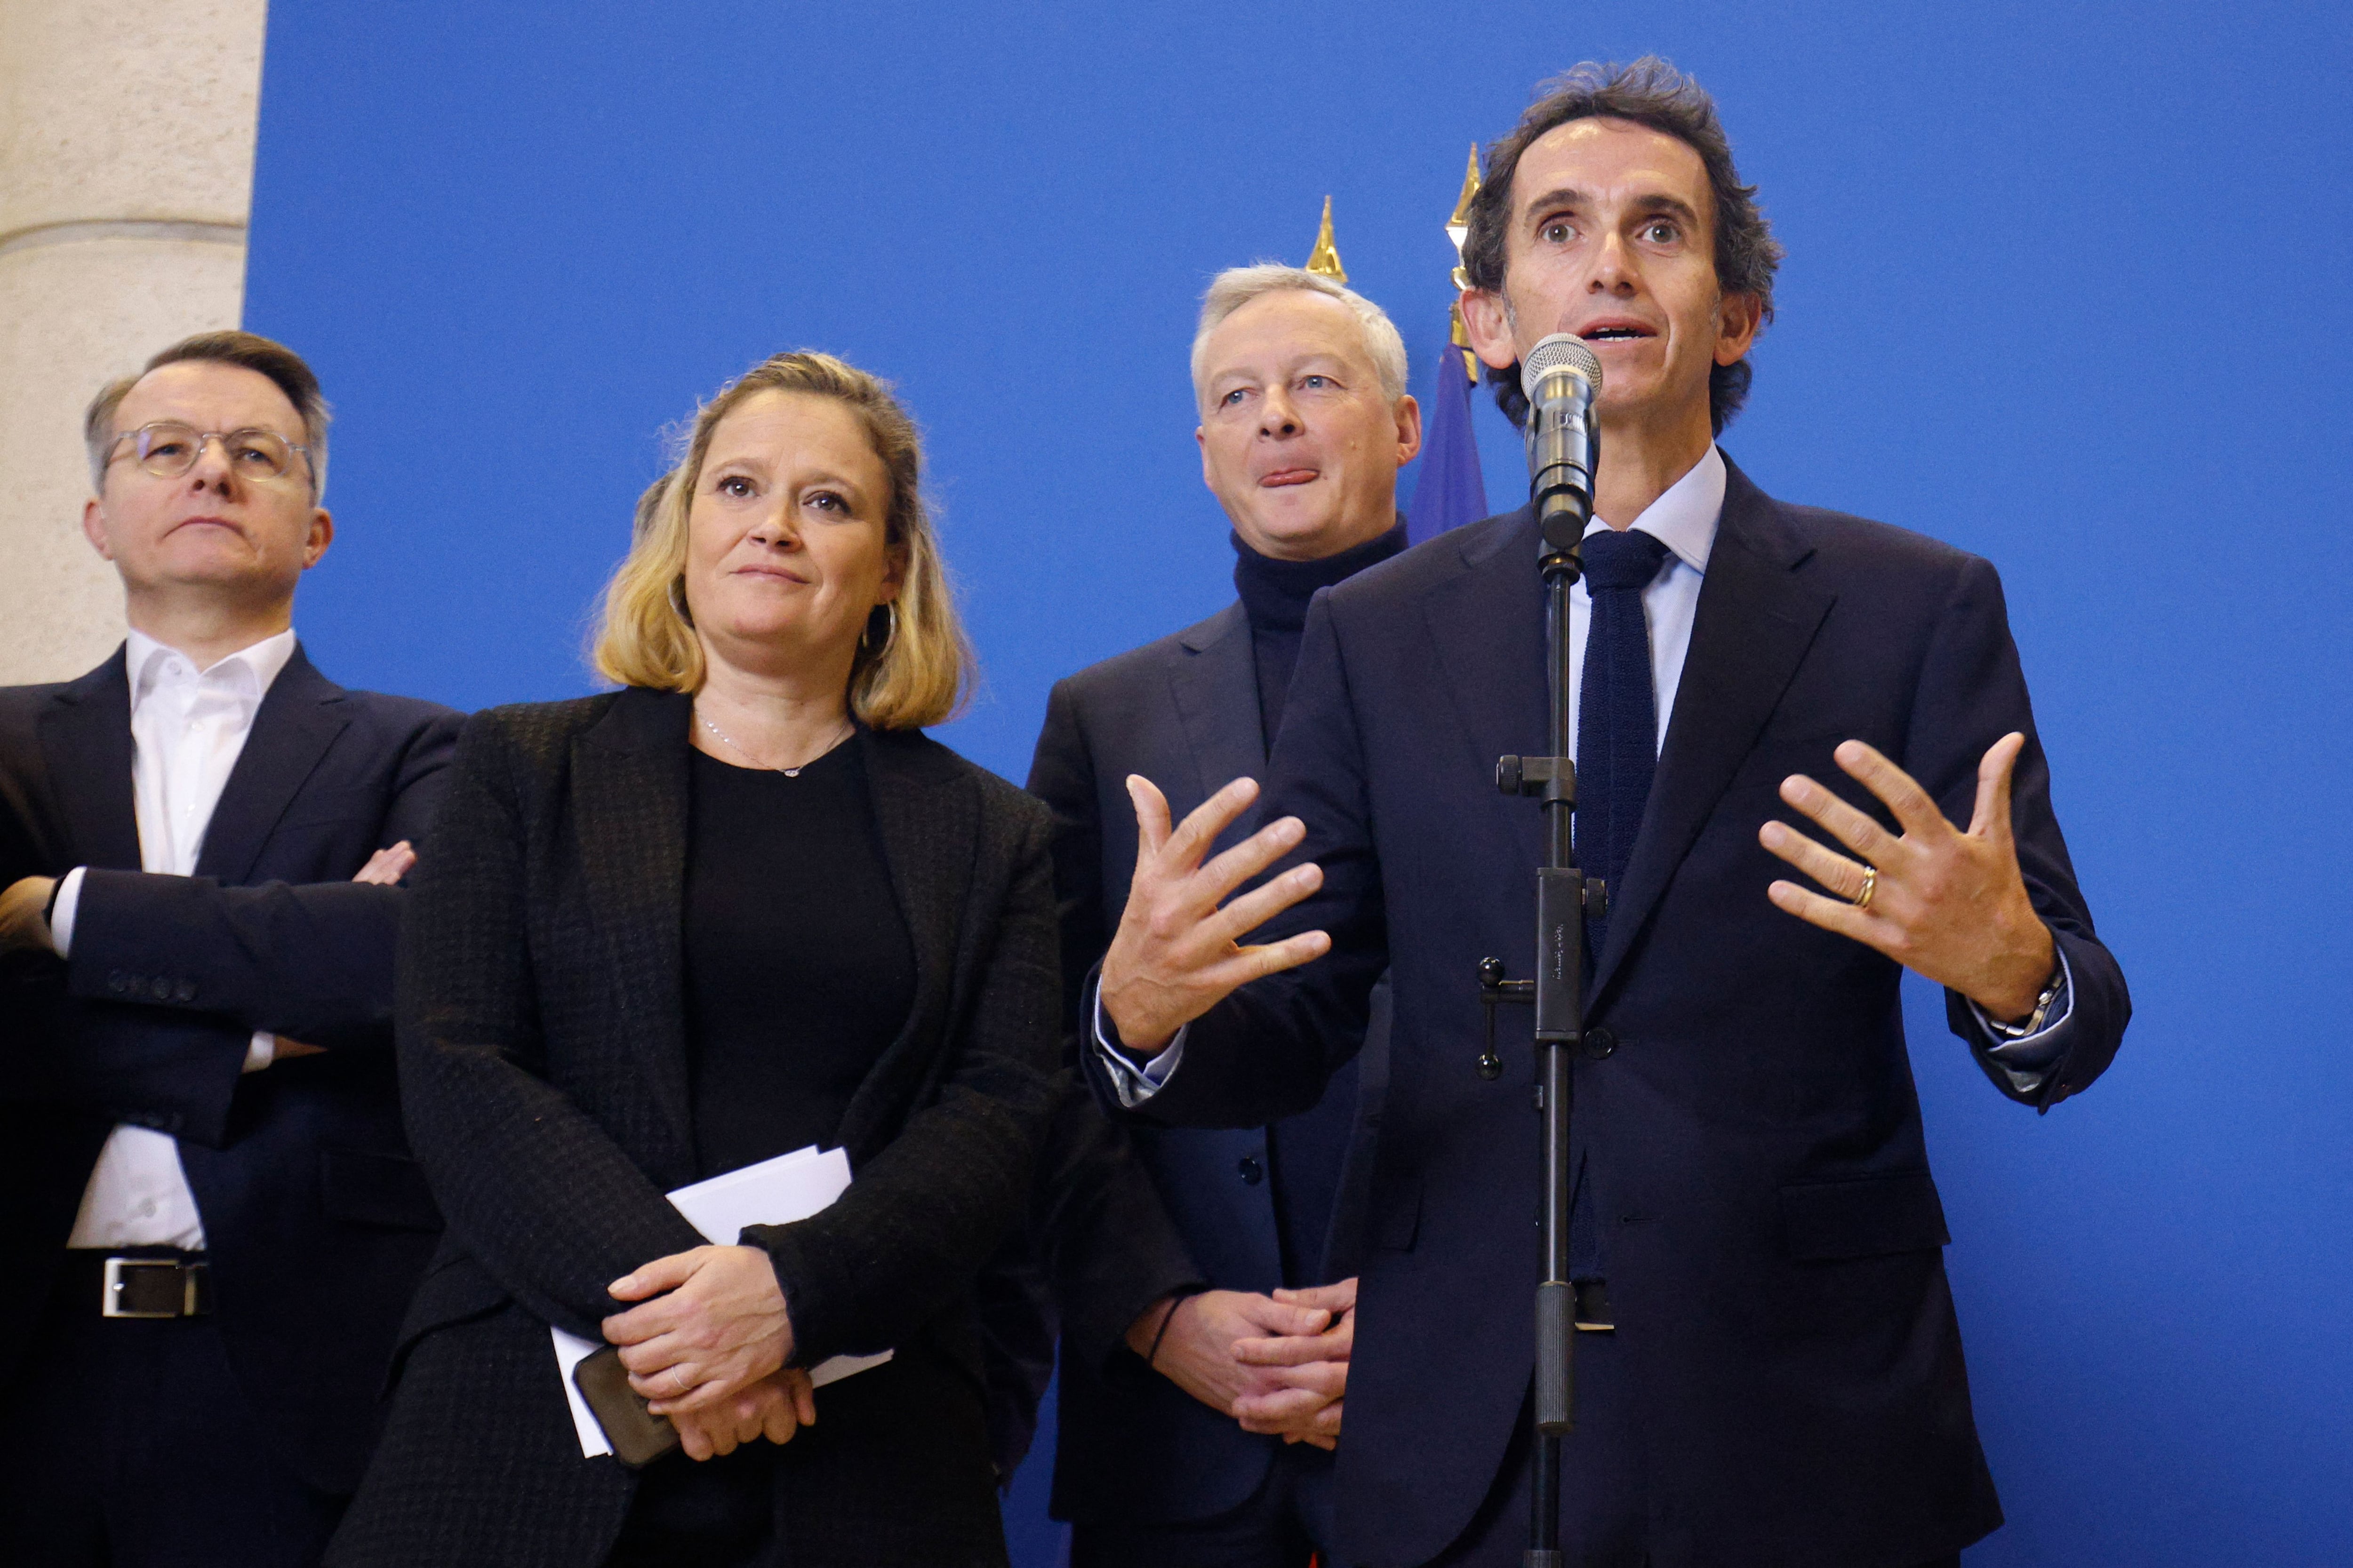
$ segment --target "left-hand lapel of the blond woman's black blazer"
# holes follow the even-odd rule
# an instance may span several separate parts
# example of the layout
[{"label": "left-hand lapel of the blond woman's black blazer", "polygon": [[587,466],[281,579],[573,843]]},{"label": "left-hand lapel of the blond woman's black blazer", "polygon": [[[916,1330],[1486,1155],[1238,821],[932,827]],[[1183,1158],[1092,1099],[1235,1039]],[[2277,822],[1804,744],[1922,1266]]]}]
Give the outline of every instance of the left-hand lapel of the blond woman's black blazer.
[{"label": "left-hand lapel of the blond woman's black blazer", "polygon": [[628,686],[572,741],[572,816],[588,905],[680,1168],[694,1166],[685,1032],[689,710],[685,693]]}]

